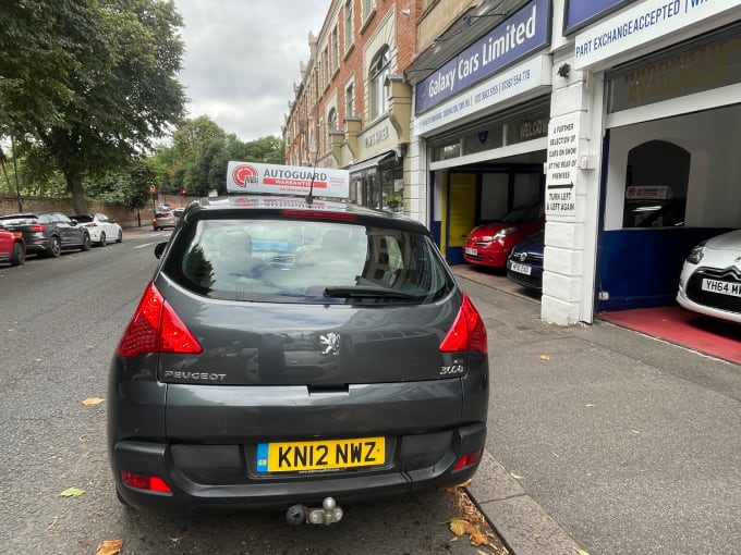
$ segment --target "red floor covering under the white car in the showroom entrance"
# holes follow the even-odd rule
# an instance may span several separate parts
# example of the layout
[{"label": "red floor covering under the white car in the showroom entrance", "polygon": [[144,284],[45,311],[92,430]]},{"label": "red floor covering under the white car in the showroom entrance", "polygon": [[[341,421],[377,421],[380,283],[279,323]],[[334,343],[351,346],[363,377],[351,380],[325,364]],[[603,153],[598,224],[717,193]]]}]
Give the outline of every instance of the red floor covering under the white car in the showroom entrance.
[{"label": "red floor covering under the white car in the showroom entrance", "polygon": [[741,365],[741,325],[681,307],[600,312],[602,320]]}]

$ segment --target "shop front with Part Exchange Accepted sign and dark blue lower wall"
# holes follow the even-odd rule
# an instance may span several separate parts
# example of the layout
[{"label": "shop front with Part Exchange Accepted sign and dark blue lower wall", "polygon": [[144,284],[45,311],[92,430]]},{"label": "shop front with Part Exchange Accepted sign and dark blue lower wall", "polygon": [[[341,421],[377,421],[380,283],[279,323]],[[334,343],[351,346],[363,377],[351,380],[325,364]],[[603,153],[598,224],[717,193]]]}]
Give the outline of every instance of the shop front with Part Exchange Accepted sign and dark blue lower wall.
[{"label": "shop front with Part Exchange Accepted sign and dark blue lower wall", "polygon": [[604,84],[585,102],[603,137],[594,312],[672,305],[691,248],[741,227],[739,20],[738,1],[647,0],[575,35],[573,66]]}]

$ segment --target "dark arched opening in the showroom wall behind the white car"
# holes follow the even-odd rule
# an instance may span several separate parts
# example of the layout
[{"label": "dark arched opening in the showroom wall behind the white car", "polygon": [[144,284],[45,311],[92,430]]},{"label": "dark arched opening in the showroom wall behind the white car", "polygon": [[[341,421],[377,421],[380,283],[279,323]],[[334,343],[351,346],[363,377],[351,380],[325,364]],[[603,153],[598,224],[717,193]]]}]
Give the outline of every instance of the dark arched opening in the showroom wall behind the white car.
[{"label": "dark arched opening in the showroom wall behind the white car", "polygon": [[665,140],[649,140],[631,149],[623,227],[684,225],[690,158],[690,152]]}]

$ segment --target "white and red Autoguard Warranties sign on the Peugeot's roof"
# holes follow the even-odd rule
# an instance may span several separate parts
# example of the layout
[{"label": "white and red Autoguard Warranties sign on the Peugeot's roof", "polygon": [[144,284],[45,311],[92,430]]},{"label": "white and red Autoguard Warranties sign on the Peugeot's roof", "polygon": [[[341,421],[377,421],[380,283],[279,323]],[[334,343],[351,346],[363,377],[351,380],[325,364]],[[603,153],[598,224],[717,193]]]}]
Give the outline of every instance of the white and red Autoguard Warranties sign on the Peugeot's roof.
[{"label": "white and red Autoguard Warranties sign on the Peugeot's roof", "polygon": [[350,172],[330,168],[229,162],[228,193],[259,193],[271,195],[308,195],[348,198]]}]

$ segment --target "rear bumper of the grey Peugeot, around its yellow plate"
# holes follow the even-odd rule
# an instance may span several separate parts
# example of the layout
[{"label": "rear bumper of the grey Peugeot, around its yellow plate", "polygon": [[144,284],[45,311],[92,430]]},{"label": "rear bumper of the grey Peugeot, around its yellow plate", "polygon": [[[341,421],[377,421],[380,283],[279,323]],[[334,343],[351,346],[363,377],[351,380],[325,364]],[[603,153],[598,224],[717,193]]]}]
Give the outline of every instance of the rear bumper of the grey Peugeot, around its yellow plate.
[{"label": "rear bumper of the grey Peugeot, around its yellow plate", "polygon": [[[162,513],[208,509],[287,509],[319,505],[331,496],[342,504],[449,488],[470,479],[478,462],[460,470],[461,455],[483,451],[486,425],[390,439],[392,460],[380,470],[255,476],[251,445],[183,445],[121,441],[111,453],[117,489],[132,506]],[[387,468],[388,467],[388,468]],[[121,472],[162,478],[171,493],[124,485]]]}]

